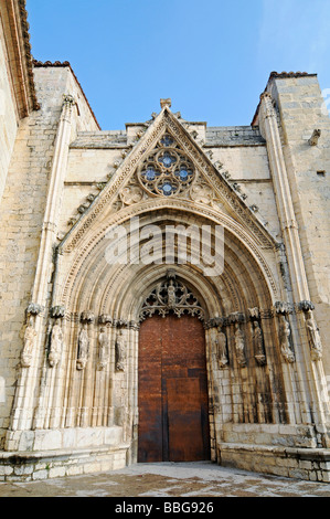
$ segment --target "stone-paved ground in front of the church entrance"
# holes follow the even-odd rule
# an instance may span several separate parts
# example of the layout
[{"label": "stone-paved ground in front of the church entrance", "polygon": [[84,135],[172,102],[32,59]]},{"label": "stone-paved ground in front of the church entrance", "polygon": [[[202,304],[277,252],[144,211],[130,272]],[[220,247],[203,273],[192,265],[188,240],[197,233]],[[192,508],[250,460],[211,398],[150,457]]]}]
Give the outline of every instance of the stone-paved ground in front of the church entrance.
[{"label": "stone-paved ground in front of the church entrance", "polygon": [[161,463],[87,476],[0,483],[0,497],[131,497],[139,502],[157,497],[330,497],[330,484],[246,473],[207,462]]}]

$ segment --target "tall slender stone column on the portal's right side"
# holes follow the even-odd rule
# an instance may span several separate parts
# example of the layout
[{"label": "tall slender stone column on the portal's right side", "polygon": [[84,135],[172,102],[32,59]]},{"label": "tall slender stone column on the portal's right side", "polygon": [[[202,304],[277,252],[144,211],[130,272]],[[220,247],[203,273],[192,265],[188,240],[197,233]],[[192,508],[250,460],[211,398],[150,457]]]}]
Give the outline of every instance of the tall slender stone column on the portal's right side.
[{"label": "tall slender stone column on the portal's right side", "polygon": [[[288,258],[288,267],[291,278],[292,301],[298,305],[301,300],[309,300],[309,287],[301,252],[299,230],[294,210],[294,203],[288,181],[288,174],[283,153],[277,114],[272,95],[266,92],[260,96],[260,130],[267,141],[267,151],[276,203],[281,224],[284,243]],[[297,356],[297,373],[300,383],[304,422],[315,422],[317,425],[329,421],[329,399],[324,396],[323,388],[326,378],[320,360],[312,360],[308,347],[305,321],[297,314],[297,328],[292,330]],[[316,415],[310,415],[312,404]]]}]

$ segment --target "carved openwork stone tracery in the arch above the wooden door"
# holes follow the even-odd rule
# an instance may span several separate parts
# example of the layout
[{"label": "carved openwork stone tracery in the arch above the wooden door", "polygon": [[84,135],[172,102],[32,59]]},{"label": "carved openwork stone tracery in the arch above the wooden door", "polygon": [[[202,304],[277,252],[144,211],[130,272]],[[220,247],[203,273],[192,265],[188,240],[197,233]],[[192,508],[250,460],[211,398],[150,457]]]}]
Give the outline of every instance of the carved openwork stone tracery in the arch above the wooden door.
[{"label": "carved openwork stone tracery in the arch above the wooden door", "polygon": [[173,273],[168,273],[167,279],[160,282],[147,296],[140,310],[140,321],[155,314],[166,317],[170,313],[177,317],[196,316],[202,321],[205,318],[196,297]]}]

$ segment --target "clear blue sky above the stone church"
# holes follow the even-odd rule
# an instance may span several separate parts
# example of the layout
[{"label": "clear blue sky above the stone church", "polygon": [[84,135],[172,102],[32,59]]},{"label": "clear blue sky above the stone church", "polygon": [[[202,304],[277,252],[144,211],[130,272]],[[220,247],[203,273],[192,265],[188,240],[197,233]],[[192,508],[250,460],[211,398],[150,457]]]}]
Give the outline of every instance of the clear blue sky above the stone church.
[{"label": "clear blue sky above the stone church", "polygon": [[172,110],[249,125],[272,71],[330,88],[330,0],[26,0],[32,54],[70,61],[102,129]]}]

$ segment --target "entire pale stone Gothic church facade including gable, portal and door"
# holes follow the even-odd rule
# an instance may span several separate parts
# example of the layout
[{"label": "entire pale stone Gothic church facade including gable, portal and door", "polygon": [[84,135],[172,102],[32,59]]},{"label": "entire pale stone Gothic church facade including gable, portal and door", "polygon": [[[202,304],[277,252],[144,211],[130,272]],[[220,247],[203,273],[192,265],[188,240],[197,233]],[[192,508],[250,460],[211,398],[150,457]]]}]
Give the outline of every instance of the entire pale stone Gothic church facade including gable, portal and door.
[{"label": "entire pale stone Gothic church facade including gable, portal and door", "polygon": [[272,73],[251,126],[161,99],[102,130],[1,0],[0,479],[211,459],[329,481],[330,120]]}]

